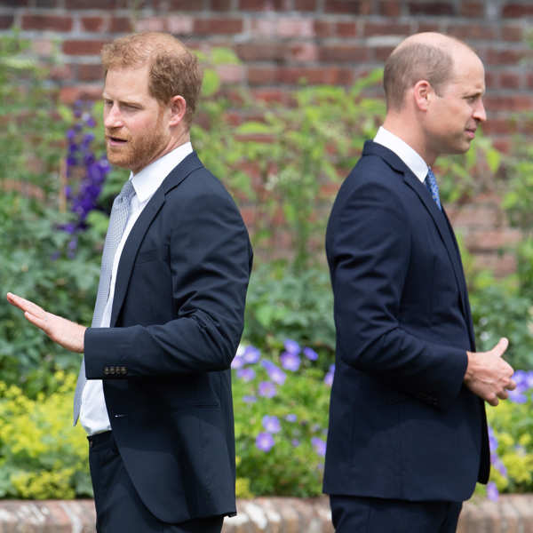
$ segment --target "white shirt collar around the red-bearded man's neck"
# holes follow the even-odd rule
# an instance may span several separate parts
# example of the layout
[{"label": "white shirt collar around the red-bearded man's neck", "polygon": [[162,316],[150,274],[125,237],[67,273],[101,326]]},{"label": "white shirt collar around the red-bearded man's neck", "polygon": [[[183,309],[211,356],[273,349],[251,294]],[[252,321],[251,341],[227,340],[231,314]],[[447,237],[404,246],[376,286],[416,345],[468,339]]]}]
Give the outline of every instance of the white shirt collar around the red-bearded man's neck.
[{"label": "white shirt collar around the red-bearded man's neck", "polygon": [[155,191],[161,186],[163,180],[171,173],[172,169],[179,165],[192,152],[193,146],[190,142],[186,142],[174,148],[168,154],[156,159],[137,174],[131,172],[131,183],[133,184],[139,203],[146,202],[148,198],[154,195]]}]

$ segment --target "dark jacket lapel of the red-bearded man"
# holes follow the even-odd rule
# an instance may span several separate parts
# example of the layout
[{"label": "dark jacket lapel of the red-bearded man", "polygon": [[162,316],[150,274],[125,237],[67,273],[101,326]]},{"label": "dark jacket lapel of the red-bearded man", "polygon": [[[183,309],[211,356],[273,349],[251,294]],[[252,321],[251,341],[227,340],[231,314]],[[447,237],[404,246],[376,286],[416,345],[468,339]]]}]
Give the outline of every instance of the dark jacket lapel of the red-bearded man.
[{"label": "dark jacket lapel of the red-bearded man", "polygon": [[195,152],[187,155],[187,157],[174,167],[171,173],[163,180],[161,186],[155,191],[155,194],[150,198],[146,207],[140,213],[139,219],[135,221],[135,224],[131,228],[130,235],[128,235],[128,238],[124,243],[123,251],[118,263],[113,309],[111,310],[111,322],[109,324],[110,327],[114,327],[116,324],[116,320],[120,314],[128,290],[131,272],[135,264],[140,244],[147,233],[148,227],[150,227],[155,216],[163,207],[163,203],[165,203],[165,195],[174,187],[178,187],[192,171],[202,167],[203,164],[198,159]]}]

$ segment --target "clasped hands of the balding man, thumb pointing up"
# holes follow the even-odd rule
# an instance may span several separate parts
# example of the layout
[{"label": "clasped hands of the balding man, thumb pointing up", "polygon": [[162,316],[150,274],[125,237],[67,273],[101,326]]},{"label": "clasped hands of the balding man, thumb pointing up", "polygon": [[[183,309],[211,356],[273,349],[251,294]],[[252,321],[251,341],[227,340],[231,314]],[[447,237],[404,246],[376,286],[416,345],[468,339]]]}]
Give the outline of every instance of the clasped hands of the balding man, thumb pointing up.
[{"label": "clasped hands of the balding man, thumb pointing up", "polygon": [[490,405],[497,405],[500,398],[505,400],[507,391],[516,388],[511,379],[513,367],[502,359],[509,346],[506,338],[500,338],[489,352],[466,352],[468,365],[465,372],[465,386]]}]

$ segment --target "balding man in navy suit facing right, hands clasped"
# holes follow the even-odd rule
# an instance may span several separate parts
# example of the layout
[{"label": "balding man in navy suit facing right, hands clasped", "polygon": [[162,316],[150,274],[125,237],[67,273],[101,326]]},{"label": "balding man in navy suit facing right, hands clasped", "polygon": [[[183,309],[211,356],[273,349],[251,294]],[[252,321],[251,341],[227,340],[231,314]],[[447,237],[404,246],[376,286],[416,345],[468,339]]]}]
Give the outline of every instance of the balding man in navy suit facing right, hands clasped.
[{"label": "balding man in navy suit facing right, hands clasped", "polygon": [[485,120],[481,60],[436,33],[386,61],[386,120],[346,178],[326,249],[337,361],[324,492],[338,532],[448,533],[489,477],[483,401],[513,389],[502,338],[476,353],[432,165]]}]

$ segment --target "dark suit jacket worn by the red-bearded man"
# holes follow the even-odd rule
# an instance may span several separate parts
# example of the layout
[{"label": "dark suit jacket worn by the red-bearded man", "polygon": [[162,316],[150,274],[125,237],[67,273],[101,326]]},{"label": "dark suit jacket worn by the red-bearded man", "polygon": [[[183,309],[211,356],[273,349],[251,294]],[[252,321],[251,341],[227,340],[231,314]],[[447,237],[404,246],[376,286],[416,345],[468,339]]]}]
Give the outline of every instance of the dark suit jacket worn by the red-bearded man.
[{"label": "dark suit jacket worn by the red-bearded man", "polygon": [[85,370],[139,497],[166,522],[235,513],[230,364],[251,245],[195,153],[164,179],[120,259],[109,328],[85,333]]}]

